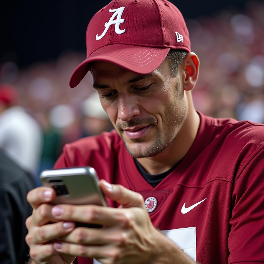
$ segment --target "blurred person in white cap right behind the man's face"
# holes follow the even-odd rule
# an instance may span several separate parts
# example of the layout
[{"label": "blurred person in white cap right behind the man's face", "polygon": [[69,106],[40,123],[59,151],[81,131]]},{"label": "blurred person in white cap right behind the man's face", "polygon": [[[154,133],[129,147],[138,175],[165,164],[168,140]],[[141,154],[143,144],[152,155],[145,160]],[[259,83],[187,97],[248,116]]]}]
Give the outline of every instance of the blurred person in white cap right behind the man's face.
[{"label": "blurred person in white cap right behind the man's face", "polygon": [[113,129],[112,123],[100,102],[97,92],[93,92],[82,103],[82,125],[84,136],[99,135]]}]

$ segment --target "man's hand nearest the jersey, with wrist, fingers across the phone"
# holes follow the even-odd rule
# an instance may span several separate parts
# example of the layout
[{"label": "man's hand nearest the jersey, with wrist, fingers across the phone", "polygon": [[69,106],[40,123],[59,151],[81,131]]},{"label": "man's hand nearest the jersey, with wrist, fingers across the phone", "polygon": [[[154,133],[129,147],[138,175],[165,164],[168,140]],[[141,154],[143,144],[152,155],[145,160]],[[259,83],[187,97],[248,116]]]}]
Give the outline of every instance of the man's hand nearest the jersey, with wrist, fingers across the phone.
[{"label": "man's hand nearest the jersey, with wrist, fingers across the phone", "polygon": [[102,192],[119,208],[95,205],[57,205],[57,220],[100,224],[78,227],[54,243],[54,249],[72,256],[96,258],[103,264],[194,263],[152,225],[142,195],[121,185],[100,182]]}]

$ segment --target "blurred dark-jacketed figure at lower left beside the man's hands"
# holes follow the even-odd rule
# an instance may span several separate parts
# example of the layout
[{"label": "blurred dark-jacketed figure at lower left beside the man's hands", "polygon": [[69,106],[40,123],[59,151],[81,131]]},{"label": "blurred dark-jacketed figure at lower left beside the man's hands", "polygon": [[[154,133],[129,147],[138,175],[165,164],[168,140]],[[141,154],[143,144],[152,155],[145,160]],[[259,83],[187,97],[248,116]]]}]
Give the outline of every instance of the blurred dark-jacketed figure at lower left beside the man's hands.
[{"label": "blurred dark-jacketed figure at lower left beside the man's hands", "polygon": [[0,263],[22,264],[29,254],[25,221],[32,213],[26,200],[34,181],[0,149]]}]

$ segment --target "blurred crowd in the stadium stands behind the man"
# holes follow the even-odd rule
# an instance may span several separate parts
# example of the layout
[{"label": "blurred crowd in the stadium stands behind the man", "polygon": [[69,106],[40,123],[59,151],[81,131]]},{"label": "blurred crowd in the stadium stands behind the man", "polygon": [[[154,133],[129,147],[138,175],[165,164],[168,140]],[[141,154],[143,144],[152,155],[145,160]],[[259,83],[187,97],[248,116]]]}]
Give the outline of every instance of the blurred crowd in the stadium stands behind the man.
[{"label": "blurred crowd in the stadium stands behind the man", "polygon": [[[205,115],[263,123],[264,2],[248,1],[245,7],[186,19],[192,51],[201,62],[193,98]],[[64,144],[112,129],[94,95],[90,73],[69,88],[69,77],[84,58],[85,50],[64,51],[26,67],[13,60],[0,65],[0,85],[15,87],[16,109],[29,114],[36,121],[35,131],[39,129],[39,139],[32,143],[38,157],[30,168],[34,175],[53,166]]]}]

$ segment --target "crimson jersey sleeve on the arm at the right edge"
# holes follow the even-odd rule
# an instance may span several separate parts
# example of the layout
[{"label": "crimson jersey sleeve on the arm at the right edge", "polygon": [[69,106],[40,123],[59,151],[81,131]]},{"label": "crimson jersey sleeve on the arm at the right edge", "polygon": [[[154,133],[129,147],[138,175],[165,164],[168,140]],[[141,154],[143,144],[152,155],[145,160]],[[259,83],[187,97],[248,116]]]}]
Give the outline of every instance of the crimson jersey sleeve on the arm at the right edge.
[{"label": "crimson jersey sleeve on the arm at the right edge", "polygon": [[233,184],[228,263],[264,263],[264,150],[240,167]]}]

